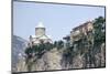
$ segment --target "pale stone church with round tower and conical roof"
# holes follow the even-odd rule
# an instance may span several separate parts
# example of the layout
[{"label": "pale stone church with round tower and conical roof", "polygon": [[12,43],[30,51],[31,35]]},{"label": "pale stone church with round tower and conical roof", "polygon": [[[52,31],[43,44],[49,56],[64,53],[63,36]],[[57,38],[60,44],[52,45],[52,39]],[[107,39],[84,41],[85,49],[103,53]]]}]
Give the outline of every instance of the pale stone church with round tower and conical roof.
[{"label": "pale stone church with round tower and conical roof", "polygon": [[48,35],[46,35],[46,29],[43,25],[42,22],[40,22],[36,27],[35,27],[35,35],[30,35],[30,44],[32,45],[36,45],[36,44],[41,44],[41,43],[53,43],[53,41],[51,40],[51,38]]}]

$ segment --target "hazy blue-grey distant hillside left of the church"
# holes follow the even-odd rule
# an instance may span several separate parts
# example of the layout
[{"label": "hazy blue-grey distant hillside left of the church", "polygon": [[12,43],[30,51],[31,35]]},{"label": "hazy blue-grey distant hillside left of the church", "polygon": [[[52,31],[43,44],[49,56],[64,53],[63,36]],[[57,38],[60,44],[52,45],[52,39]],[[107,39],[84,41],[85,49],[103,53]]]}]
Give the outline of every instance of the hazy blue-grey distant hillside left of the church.
[{"label": "hazy blue-grey distant hillside left of the church", "polygon": [[19,62],[20,56],[24,54],[24,50],[26,46],[26,40],[13,35],[12,36],[12,70],[16,70],[16,63]]}]

